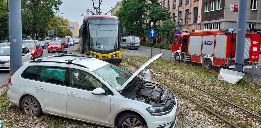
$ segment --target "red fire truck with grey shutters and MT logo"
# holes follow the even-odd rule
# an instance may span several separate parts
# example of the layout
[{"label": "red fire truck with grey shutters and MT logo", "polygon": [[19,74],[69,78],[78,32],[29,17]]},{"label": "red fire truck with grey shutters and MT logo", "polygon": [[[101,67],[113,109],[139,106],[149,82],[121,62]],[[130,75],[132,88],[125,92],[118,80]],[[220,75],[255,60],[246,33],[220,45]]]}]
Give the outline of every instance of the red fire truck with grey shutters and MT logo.
[{"label": "red fire truck with grey shutters and MT logo", "polygon": [[[245,34],[244,60],[258,62],[260,51],[261,34]],[[184,59],[186,62],[204,62],[209,68],[227,64],[226,58],[235,59],[236,54],[236,32],[230,30],[204,29],[191,33],[176,34],[172,44],[172,58],[176,61]],[[230,63],[234,63],[231,61]],[[244,62],[250,65],[251,62]]]}]

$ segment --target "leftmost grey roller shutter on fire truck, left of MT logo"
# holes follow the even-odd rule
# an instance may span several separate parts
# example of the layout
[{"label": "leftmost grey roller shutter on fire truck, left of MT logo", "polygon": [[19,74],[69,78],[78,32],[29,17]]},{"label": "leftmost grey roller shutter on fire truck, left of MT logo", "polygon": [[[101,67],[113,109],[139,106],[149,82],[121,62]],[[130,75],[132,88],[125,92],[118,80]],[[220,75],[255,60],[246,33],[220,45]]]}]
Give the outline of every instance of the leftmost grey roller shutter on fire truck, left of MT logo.
[{"label": "leftmost grey roller shutter on fire truck, left of MT logo", "polygon": [[202,36],[190,36],[189,40],[189,54],[201,55],[201,41]]}]

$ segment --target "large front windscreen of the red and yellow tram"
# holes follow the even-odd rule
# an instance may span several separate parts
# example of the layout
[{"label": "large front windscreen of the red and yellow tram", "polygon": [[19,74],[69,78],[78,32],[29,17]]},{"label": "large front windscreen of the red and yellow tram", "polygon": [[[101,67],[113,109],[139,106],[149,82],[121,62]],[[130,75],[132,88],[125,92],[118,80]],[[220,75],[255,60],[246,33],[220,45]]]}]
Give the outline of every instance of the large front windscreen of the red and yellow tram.
[{"label": "large front windscreen of the red and yellow tram", "polygon": [[97,51],[118,49],[118,20],[92,19],[89,20],[90,49]]}]

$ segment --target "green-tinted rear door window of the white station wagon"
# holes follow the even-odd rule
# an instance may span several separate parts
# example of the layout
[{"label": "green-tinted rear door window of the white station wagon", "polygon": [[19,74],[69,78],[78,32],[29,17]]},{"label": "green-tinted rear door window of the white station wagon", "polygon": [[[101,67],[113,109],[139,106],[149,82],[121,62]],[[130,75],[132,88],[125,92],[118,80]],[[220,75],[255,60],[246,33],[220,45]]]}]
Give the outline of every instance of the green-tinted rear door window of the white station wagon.
[{"label": "green-tinted rear door window of the white station wagon", "polygon": [[64,84],[65,73],[66,73],[66,69],[65,68],[46,67],[43,81],[44,82],[48,82],[48,83],[55,83],[55,84],[65,85]]}]

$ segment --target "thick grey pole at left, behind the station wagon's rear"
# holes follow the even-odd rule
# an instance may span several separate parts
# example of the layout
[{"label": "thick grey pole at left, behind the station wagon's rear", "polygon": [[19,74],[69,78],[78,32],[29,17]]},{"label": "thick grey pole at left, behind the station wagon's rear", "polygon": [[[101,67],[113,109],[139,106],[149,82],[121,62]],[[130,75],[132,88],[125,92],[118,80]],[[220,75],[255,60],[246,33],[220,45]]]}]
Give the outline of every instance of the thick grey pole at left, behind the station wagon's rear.
[{"label": "thick grey pole at left, behind the station wagon's rear", "polygon": [[10,62],[11,75],[22,66],[21,0],[11,0],[10,6]]}]

